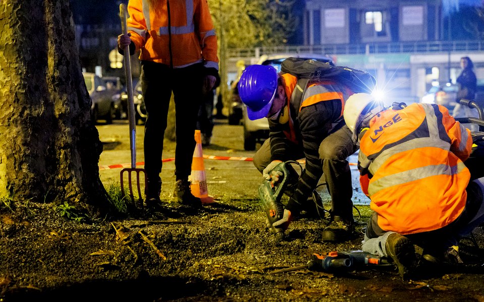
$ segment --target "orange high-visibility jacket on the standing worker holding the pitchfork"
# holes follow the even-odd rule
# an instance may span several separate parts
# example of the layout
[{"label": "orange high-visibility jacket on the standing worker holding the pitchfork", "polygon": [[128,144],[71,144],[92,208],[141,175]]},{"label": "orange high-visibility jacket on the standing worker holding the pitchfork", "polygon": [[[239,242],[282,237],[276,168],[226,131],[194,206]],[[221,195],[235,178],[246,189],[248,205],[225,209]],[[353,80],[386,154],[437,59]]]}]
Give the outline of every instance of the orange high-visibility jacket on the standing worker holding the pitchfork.
[{"label": "orange high-visibility jacket on the standing worker holding the pitchfork", "polygon": [[217,39],[206,0],[147,0],[128,3],[128,31],[140,59],[185,67],[204,62],[218,70]]}]

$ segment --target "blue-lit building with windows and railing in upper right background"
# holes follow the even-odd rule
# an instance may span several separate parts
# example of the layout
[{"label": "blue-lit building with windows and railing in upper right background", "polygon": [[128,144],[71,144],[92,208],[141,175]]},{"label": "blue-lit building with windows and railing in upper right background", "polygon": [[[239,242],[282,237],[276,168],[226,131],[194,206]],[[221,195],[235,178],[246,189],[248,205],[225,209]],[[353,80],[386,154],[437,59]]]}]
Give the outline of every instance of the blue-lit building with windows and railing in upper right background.
[{"label": "blue-lit building with windows and railing in upper right background", "polygon": [[[432,85],[455,82],[462,56],[473,60],[477,78],[484,79],[479,9],[481,2],[472,0],[307,0],[300,28],[304,45],[260,47],[251,55],[328,54],[338,65],[372,73],[388,96],[419,100]],[[229,54],[234,62],[244,59],[238,51]]]}]

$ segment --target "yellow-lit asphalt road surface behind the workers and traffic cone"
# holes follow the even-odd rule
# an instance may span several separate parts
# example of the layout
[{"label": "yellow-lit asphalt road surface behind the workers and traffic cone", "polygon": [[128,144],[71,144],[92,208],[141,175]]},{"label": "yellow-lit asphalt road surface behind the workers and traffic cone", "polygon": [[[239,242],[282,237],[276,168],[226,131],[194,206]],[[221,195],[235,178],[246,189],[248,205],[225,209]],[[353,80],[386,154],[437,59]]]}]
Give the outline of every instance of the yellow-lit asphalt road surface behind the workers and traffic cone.
[{"label": "yellow-lit asphalt road surface behind the workers and traffic cone", "polygon": [[[204,156],[215,156],[227,159],[205,159],[204,168],[208,187],[208,194],[217,199],[220,196],[232,198],[253,198],[258,199],[257,188],[262,182],[262,175],[257,171],[251,161],[255,151],[244,150],[243,126],[228,125],[226,120],[215,120],[213,129],[212,144],[202,148]],[[131,152],[129,140],[129,124],[127,120],[114,120],[110,125],[98,124],[100,140],[103,143],[103,152],[100,156],[100,178],[106,187],[110,183],[119,184],[121,168],[109,167],[118,164],[128,164],[131,167]],[[136,162],[143,163],[143,133],[144,126],[136,126]],[[160,137],[161,139],[161,137]],[[257,148],[260,145],[257,145]],[[174,158],[175,143],[169,140],[164,142],[163,159]],[[353,175],[353,202],[355,204],[369,204],[369,199],[359,190],[358,171],[356,169],[357,156],[352,155],[348,161],[352,164]],[[138,166],[137,168],[143,168]],[[127,173],[123,174],[127,182]],[[174,178],[174,162],[167,161],[163,164],[161,198],[169,198],[172,193]],[[320,181],[322,184],[323,181]],[[136,185],[135,183],[133,185]],[[144,181],[141,181],[143,188]],[[323,200],[329,198],[325,186],[319,186],[318,191]]]}]

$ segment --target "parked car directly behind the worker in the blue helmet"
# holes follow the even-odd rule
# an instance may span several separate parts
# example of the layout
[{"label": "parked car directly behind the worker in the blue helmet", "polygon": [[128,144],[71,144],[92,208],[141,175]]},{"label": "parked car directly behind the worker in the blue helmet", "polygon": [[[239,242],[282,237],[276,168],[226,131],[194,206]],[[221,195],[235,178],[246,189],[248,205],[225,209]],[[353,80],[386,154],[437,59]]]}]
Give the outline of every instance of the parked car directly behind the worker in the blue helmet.
[{"label": "parked car directly behind the worker in the blue helmet", "polygon": [[[281,70],[281,63],[288,57],[296,57],[302,59],[313,59],[322,62],[329,62],[333,64],[331,57],[327,55],[318,55],[313,53],[285,53],[285,54],[273,54],[261,56],[258,64],[271,65],[276,68],[277,71]],[[261,118],[257,120],[250,120],[247,116],[247,107],[244,103],[240,102],[241,111],[243,113],[242,124],[244,126],[244,149],[255,150],[257,142],[263,142],[269,137],[269,122],[267,118]],[[234,107],[232,105],[232,107]]]}]

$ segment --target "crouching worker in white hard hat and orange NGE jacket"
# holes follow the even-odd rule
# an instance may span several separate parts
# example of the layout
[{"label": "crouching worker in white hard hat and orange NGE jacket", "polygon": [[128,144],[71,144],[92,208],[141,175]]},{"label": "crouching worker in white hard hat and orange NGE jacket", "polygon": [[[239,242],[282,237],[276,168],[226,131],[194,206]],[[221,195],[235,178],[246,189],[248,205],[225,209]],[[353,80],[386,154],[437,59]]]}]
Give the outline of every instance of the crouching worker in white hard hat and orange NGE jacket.
[{"label": "crouching worker in white hard hat and orange NGE jacket", "polygon": [[343,116],[359,143],[362,191],[374,213],[362,250],[391,257],[403,279],[415,275],[414,244],[422,262],[461,262],[458,243],[484,222],[484,171],[464,164],[469,129],[440,105],[385,109],[368,94],[346,101]]}]

